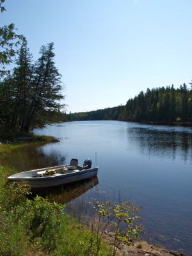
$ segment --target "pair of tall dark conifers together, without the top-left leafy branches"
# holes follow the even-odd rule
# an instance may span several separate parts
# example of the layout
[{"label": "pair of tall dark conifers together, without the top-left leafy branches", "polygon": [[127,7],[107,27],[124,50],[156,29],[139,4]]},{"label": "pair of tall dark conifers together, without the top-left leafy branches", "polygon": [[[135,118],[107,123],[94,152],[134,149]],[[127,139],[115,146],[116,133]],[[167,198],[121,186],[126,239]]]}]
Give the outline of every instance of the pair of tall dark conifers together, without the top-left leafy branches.
[{"label": "pair of tall dark conifers together, without the top-left leafy branches", "polygon": [[53,43],[42,46],[40,58],[32,63],[27,43],[21,45],[17,67],[0,83],[1,132],[29,132],[31,127],[44,126],[52,113],[60,111],[63,105],[58,100],[64,97],[53,47]]}]

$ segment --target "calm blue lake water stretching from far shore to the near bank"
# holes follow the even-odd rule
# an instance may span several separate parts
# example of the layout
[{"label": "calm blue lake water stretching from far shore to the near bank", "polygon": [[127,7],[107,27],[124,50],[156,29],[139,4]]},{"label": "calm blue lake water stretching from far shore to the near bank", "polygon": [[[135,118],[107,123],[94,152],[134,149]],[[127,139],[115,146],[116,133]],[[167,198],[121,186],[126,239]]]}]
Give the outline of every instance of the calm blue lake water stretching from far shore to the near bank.
[{"label": "calm blue lake water stretching from far shore to the near bank", "polygon": [[143,207],[145,239],[192,255],[191,128],[84,121],[48,125],[34,132],[56,136],[60,142],[29,147],[31,160],[19,163],[20,171],[68,163],[71,158],[83,164],[91,158],[99,166],[98,179],[76,186],[66,201],[61,193],[60,202],[72,200],[70,207],[78,212],[90,197],[132,200]]}]

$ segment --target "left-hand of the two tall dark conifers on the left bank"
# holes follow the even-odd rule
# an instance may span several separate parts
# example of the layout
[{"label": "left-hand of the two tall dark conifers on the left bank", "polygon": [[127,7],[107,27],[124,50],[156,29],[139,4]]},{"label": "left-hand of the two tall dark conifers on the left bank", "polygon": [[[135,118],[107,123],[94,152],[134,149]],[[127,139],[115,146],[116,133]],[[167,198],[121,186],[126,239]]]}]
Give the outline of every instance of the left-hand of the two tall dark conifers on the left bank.
[{"label": "left-hand of the two tall dark conifers on the left bank", "polygon": [[[17,67],[4,77],[0,84],[0,117],[6,130],[18,131],[28,110],[31,78],[33,77],[31,54],[27,43],[20,47]],[[1,127],[3,129],[3,127]]]}]

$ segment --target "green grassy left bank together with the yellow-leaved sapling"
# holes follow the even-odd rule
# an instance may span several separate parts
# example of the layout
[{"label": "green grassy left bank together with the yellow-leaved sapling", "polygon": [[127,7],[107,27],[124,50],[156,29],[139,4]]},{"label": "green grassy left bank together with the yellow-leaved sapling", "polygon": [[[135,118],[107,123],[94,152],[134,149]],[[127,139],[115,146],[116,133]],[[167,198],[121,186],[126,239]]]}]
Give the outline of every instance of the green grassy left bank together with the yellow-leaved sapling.
[{"label": "green grassy left bank together with the yellow-leaved sapling", "polygon": [[[52,140],[47,136],[35,136],[33,143],[42,145]],[[13,150],[28,145],[26,138],[15,143],[1,143],[0,152],[8,156]],[[131,202],[97,202],[95,223],[84,227],[65,213],[64,205],[51,203],[38,195],[32,197],[28,183],[8,183],[6,177],[15,172],[17,170],[10,166],[0,166],[0,255],[115,256],[116,246],[121,241],[131,244],[138,236],[140,227],[134,225],[138,207]],[[127,225],[126,230],[120,228],[120,223]],[[112,225],[115,240],[113,246],[109,246],[102,235]]]}]

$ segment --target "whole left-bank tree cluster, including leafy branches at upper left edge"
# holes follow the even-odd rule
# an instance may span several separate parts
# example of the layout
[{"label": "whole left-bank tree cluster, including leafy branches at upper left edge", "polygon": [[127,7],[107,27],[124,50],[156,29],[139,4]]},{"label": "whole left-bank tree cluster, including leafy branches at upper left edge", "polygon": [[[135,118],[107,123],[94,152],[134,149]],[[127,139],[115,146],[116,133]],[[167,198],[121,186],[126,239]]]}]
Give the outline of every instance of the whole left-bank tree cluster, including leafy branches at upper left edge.
[{"label": "whole left-bank tree cluster, including leafy branches at upper left edge", "polygon": [[60,100],[65,97],[54,63],[54,44],[43,45],[40,57],[33,61],[26,38],[15,31],[13,24],[0,28],[0,135],[29,132],[66,116],[61,111],[65,105]]}]

